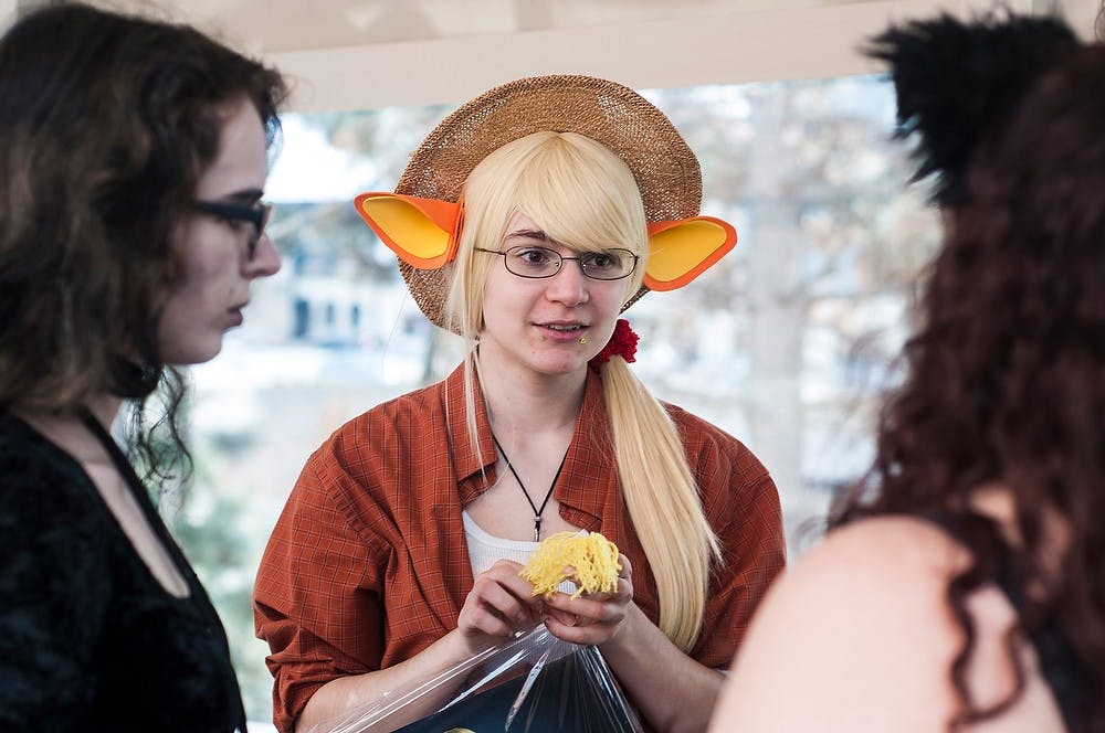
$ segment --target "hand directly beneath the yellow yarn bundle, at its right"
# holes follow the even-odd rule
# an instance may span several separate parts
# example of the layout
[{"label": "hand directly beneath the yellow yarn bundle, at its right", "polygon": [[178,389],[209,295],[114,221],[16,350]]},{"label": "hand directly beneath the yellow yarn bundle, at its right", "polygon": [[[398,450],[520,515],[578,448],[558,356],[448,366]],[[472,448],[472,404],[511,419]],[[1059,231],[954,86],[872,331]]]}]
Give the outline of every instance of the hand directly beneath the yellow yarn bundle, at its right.
[{"label": "hand directly beneath the yellow yarn bundle, at its right", "polygon": [[618,635],[633,601],[633,569],[629,557],[620,554],[618,563],[621,571],[614,593],[585,593],[572,598],[558,592],[545,599],[545,626],[554,636],[572,644],[598,646]]}]

